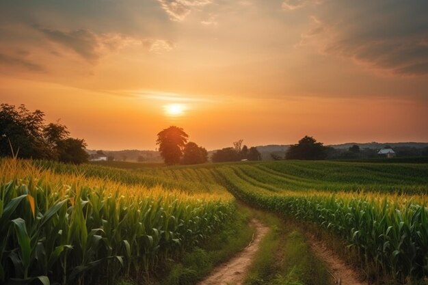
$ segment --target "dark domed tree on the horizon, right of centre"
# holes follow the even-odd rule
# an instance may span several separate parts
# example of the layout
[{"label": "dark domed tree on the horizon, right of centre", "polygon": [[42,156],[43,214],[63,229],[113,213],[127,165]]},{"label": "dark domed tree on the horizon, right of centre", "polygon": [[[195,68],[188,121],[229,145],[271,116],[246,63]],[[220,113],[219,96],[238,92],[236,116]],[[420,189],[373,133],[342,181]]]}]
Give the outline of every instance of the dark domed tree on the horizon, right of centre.
[{"label": "dark domed tree on the horizon, right of centre", "polygon": [[325,159],[325,146],[307,135],[286,151],[286,159],[318,160]]}]

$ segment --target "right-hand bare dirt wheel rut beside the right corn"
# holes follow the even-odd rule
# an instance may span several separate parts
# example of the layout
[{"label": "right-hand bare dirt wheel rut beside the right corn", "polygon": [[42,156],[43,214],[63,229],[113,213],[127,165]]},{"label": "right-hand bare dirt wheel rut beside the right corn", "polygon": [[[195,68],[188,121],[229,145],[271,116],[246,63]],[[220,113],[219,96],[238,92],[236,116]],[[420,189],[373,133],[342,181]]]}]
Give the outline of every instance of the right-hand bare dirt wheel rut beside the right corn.
[{"label": "right-hand bare dirt wheel rut beside the right corn", "polygon": [[339,285],[366,285],[367,283],[358,280],[358,274],[349,267],[337,254],[317,241],[314,236],[306,235],[310,247],[315,254],[327,264],[330,274],[336,279]]}]

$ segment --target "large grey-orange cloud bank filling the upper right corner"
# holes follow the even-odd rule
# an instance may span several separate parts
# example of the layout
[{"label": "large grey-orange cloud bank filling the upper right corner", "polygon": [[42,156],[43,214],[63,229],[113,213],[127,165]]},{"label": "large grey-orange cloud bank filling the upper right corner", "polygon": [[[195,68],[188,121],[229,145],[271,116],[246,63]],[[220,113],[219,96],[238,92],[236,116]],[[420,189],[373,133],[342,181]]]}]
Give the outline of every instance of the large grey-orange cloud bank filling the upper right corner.
[{"label": "large grey-orange cloud bank filling the upper right corner", "polygon": [[299,46],[392,74],[428,74],[428,3],[341,2],[312,16]]}]

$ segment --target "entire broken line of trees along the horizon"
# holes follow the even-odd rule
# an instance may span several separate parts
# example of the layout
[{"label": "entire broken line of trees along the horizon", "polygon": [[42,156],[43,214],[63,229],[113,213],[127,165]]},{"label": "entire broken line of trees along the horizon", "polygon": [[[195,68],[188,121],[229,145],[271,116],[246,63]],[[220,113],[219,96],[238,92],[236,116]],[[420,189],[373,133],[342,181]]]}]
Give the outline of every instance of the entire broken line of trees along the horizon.
[{"label": "entire broken line of trees along the horizon", "polygon": [[[161,157],[167,165],[191,165],[206,163],[208,152],[193,141],[183,128],[170,126],[157,134]],[[84,139],[70,137],[67,127],[59,122],[46,123],[40,110],[29,111],[25,105],[0,105],[0,157],[19,157],[24,159],[48,159],[64,163],[84,163],[89,155],[85,151]],[[398,156],[428,155],[428,148],[396,148]],[[284,159],[320,160],[320,159],[361,159],[379,157],[376,150],[358,145],[348,150],[338,150],[313,137],[305,136],[297,144],[291,145]],[[275,160],[283,159],[272,155]],[[110,159],[111,160],[111,159]],[[222,148],[213,153],[211,161],[259,161],[260,152],[255,146],[248,148],[243,139],[233,146]]]}]

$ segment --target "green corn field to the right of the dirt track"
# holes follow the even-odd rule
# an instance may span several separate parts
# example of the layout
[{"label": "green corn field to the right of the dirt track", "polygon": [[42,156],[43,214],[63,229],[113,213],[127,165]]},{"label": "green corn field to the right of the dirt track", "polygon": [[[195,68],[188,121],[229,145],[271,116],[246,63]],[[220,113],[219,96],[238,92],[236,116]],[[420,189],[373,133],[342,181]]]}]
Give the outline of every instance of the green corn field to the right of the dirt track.
[{"label": "green corn field to the right of the dirt track", "polygon": [[[222,183],[240,200],[273,213],[293,217],[297,221],[326,228],[345,239],[349,247],[358,253],[362,264],[373,266],[378,272],[392,275],[402,282],[408,277],[420,279],[428,276],[428,198],[425,195],[428,177],[419,177],[420,185],[417,184],[417,176],[419,172],[425,171],[425,166],[420,166],[422,170],[416,167],[413,173],[416,182],[413,185],[412,177],[401,177],[404,179],[401,184],[396,183],[391,188],[388,185],[382,187],[370,183],[377,179],[369,179],[370,174],[376,176],[375,171],[358,173],[356,176],[367,176],[369,182],[366,181],[364,185],[362,181],[360,191],[352,192],[352,177],[347,183],[343,180],[344,177],[340,177],[347,175],[343,171],[333,169],[337,171],[334,173],[332,169],[314,168],[314,165],[315,163],[225,165],[217,167],[216,171],[222,177]],[[343,166],[346,167],[346,163]],[[295,176],[291,177],[285,169],[292,169],[291,174]],[[345,169],[345,173],[347,170]],[[302,171],[300,176],[299,171]],[[329,171],[332,172],[327,173]],[[308,186],[312,172],[319,175],[314,180],[319,180],[324,185]],[[386,172],[382,177],[388,175],[390,174]],[[323,190],[328,185],[330,176],[342,179],[342,190]],[[385,178],[385,181],[388,180]],[[301,188],[302,185],[308,187],[306,191]],[[416,193],[418,189],[422,193],[401,195],[394,191],[402,185],[407,185],[405,191],[409,193]]]}]

